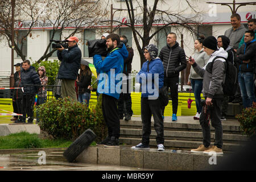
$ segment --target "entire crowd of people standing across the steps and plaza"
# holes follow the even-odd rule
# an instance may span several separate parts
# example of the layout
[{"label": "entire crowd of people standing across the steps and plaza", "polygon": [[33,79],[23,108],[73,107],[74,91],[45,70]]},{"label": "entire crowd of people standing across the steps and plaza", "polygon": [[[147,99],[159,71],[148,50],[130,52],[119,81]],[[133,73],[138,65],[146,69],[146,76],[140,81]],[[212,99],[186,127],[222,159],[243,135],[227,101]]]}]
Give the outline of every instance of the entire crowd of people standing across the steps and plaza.
[{"label": "entire crowd of people standing across the steps and plaza", "polygon": [[[222,122],[226,119],[228,103],[241,103],[244,108],[251,107],[255,100],[255,53],[256,53],[256,20],[250,19],[249,30],[241,24],[239,14],[231,17],[232,27],[225,31],[224,35],[198,36],[194,43],[195,54],[188,56],[188,63],[192,66],[188,77],[188,85],[192,86],[196,102],[196,115],[193,119],[199,119],[203,131],[203,144],[191,152],[205,153],[222,152]],[[172,100],[172,121],[177,121],[178,85],[179,75],[187,67],[185,51],[176,41],[176,34],[170,32],[167,35],[167,45],[160,51],[154,44],[143,48],[146,61],[136,76],[141,84],[141,118],[142,118],[142,141],[133,146],[133,149],[149,148],[151,134],[151,117],[154,118],[156,131],[156,143],[158,151],[164,151],[164,109],[159,99],[159,89],[164,86],[170,89]],[[61,80],[61,97],[70,97],[89,105],[92,72],[88,65],[81,63],[81,51],[77,46],[79,39],[72,36],[68,40],[68,49],[59,48],[57,56],[61,61],[58,77]],[[97,93],[102,94],[102,113],[108,127],[108,136],[98,145],[105,147],[119,147],[120,121],[125,117],[126,121],[131,119],[131,95],[129,83],[131,63],[133,61],[133,48],[127,45],[127,37],[117,34],[104,34],[99,40],[104,42],[105,48],[101,53],[93,53],[93,64],[98,74]],[[97,42],[94,42],[97,44]],[[159,54],[158,54],[159,52]],[[228,72],[228,65],[236,67],[237,89],[233,96],[224,92],[224,84]],[[24,84],[46,85],[46,70],[43,67],[38,73],[30,65],[29,61],[23,61],[22,70],[16,64],[15,86]],[[80,74],[78,74],[80,68]],[[119,74],[122,78],[117,79]],[[113,80],[114,77],[114,80]],[[121,92],[117,86],[121,84]],[[75,84],[78,87],[76,94]],[[152,92],[154,90],[154,92]],[[94,90],[95,91],[95,90]],[[24,121],[26,114],[28,122],[31,122],[32,101],[38,89],[32,88],[24,92],[15,90],[14,102],[16,102],[17,113],[23,113],[19,121]],[[39,90],[38,104],[42,104],[46,96],[46,90]],[[201,100],[203,92],[204,100]],[[157,93],[157,94],[155,94]],[[22,105],[22,107],[20,106]],[[22,108],[22,109],[20,109]],[[215,140],[210,146],[210,126],[215,129]]]}]

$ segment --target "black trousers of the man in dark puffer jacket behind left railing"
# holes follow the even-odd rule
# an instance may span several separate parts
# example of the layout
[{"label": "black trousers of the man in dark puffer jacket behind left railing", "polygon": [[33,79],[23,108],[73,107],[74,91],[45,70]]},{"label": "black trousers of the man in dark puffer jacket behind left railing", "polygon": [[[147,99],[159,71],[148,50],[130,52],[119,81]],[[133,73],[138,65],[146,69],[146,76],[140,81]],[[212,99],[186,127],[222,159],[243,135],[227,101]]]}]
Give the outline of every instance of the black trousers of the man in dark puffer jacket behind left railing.
[{"label": "black trousers of the man in dark puffer jacket behind left railing", "polygon": [[23,121],[26,120],[26,115],[28,117],[28,122],[33,121],[33,105],[35,101],[34,94],[26,94],[22,97],[22,107],[23,107]]}]

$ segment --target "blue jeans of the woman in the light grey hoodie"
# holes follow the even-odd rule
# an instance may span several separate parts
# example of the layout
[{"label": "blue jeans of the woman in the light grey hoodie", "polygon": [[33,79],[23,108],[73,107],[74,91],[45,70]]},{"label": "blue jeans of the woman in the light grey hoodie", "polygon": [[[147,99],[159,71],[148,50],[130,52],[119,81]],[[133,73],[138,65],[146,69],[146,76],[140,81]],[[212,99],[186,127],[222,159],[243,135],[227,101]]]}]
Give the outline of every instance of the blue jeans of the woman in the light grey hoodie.
[{"label": "blue jeans of the woman in the light grey hoodie", "polygon": [[203,90],[203,80],[191,79],[191,86],[196,99],[196,112],[201,113],[202,106],[200,104],[200,100],[201,100],[201,92]]}]

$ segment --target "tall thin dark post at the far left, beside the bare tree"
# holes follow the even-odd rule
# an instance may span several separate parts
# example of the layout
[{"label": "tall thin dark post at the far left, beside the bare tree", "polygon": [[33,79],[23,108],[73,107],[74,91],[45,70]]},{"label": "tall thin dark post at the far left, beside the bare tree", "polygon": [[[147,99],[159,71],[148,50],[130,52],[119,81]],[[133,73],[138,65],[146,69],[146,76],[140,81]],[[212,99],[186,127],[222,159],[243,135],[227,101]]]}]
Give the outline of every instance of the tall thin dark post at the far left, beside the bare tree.
[{"label": "tall thin dark post at the far left, beside the bare tree", "polygon": [[14,8],[15,0],[11,0],[11,76],[10,76],[10,87],[14,86]]}]

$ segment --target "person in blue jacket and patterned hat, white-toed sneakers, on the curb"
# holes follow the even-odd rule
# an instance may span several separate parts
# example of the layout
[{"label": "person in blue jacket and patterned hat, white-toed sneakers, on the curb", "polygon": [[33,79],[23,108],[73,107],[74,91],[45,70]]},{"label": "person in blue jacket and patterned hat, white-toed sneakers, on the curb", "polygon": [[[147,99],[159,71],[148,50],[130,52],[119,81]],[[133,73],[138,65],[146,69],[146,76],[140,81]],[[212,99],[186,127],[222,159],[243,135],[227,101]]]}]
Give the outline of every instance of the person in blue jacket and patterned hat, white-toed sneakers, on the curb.
[{"label": "person in blue jacket and patterned hat, white-toed sneakers, on the curb", "polygon": [[156,143],[158,151],[164,151],[164,127],[162,118],[162,105],[159,100],[159,89],[164,85],[164,67],[158,55],[158,48],[150,44],[144,48],[146,62],[137,75],[137,81],[142,86],[141,119],[142,142],[133,146],[133,149],[150,148],[151,115],[154,117]]}]

